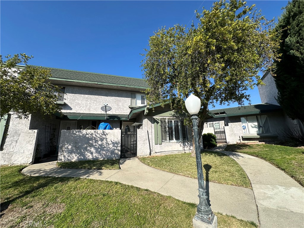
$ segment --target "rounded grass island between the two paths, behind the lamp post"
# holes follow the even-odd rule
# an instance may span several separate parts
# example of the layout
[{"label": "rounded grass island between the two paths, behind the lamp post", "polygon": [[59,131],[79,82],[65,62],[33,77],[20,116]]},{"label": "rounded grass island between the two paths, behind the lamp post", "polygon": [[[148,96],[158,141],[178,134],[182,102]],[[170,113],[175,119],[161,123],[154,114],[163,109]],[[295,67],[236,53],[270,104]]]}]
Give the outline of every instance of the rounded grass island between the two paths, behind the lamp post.
[{"label": "rounded grass island between the two paths, behind the lamp post", "polygon": [[[251,189],[245,171],[231,157],[211,151],[204,151],[201,156],[206,181]],[[160,170],[197,178],[196,160],[191,157],[191,153],[140,157],[139,160]]]}]

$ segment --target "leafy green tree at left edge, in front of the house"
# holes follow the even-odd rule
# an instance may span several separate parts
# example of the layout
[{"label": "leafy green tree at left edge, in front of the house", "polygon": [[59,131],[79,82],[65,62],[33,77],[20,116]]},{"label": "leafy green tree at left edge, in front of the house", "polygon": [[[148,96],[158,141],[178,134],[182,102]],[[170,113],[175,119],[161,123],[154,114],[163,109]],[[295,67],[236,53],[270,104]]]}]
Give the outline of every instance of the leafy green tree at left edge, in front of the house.
[{"label": "leafy green tree at left edge, in front of the house", "polygon": [[[46,80],[51,77],[50,71],[27,64],[33,56],[15,54],[0,56],[0,112],[1,117],[13,112],[18,118],[28,118],[29,114],[40,113],[43,116],[60,112],[55,103],[58,86]],[[25,66],[18,66],[23,63]]]}]

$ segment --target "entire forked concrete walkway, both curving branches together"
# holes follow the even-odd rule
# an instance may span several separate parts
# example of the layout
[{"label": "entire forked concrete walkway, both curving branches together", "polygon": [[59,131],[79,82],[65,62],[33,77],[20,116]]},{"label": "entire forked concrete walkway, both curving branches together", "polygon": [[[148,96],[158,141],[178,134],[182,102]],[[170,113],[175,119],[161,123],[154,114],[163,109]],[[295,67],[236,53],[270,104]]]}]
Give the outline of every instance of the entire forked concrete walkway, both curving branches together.
[{"label": "entire forked concrete walkway, both curving branches together", "polygon": [[[227,154],[237,161],[253,188],[252,191],[248,188],[206,182],[213,211],[260,223],[261,228],[304,227],[304,190],[296,181],[259,158],[223,150],[213,151]],[[182,201],[198,203],[196,179],[151,168],[137,158],[121,159],[120,167],[120,170],[61,169],[53,161],[28,166],[22,173],[118,181],[171,195]]]}]

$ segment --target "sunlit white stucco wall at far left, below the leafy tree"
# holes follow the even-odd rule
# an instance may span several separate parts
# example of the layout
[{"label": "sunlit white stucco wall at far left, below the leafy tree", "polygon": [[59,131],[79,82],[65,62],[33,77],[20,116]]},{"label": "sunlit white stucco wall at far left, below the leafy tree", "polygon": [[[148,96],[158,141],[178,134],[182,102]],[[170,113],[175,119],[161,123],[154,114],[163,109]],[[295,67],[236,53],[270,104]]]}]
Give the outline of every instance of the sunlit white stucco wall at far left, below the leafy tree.
[{"label": "sunlit white stucco wall at far left, below the leafy tree", "polygon": [[1,165],[30,164],[35,157],[37,130],[29,130],[31,116],[17,119],[12,115],[9,121],[8,135],[1,151]]}]

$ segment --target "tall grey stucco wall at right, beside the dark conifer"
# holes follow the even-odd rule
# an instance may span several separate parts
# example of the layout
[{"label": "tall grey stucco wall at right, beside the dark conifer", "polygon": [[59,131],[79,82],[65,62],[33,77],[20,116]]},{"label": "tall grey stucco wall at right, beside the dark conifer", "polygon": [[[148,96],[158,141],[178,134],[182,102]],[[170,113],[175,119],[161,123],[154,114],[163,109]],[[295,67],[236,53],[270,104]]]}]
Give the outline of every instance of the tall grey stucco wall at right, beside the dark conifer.
[{"label": "tall grey stucco wall at right, beside the dark conifer", "polygon": [[275,100],[278,96],[278,90],[275,86],[275,80],[271,76],[270,72],[263,78],[263,82],[266,85],[258,85],[259,94],[262,103],[278,105]]}]

